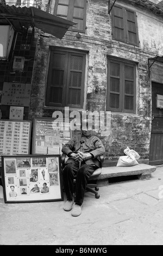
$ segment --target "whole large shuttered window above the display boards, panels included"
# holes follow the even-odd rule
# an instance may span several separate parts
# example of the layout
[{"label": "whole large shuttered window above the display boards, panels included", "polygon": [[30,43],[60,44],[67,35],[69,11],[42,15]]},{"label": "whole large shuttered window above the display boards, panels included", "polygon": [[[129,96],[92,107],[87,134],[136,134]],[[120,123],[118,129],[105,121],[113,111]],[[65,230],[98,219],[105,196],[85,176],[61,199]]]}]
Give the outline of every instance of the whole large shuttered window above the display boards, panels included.
[{"label": "whole large shuttered window above the display boards, panels included", "polygon": [[46,106],[83,108],[85,53],[51,50]]}]

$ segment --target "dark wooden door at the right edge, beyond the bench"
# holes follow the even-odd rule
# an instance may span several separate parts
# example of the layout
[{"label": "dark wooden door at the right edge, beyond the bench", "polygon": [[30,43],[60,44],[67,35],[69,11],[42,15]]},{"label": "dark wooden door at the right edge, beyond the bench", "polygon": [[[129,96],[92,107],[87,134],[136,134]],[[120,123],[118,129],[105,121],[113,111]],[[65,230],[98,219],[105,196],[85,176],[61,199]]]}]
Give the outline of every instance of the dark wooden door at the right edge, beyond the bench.
[{"label": "dark wooden door at the right edge, beyond the bench", "polygon": [[156,95],[163,95],[163,84],[152,83],[152,130],[149,164],[163,164],[163,108],[156,107]]}]

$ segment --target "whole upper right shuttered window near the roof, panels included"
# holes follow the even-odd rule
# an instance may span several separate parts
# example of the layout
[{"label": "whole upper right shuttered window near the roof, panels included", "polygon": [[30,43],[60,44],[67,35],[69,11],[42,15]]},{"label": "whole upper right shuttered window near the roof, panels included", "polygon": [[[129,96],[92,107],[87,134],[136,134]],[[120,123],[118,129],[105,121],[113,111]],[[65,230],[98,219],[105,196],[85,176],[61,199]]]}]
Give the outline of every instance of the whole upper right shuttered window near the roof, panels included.
[{"label": "whole upper right shuttered window near the roof, panels included", "polygon": [[112,8],[112,39],[139,46],[135,11],[117,5]]}]

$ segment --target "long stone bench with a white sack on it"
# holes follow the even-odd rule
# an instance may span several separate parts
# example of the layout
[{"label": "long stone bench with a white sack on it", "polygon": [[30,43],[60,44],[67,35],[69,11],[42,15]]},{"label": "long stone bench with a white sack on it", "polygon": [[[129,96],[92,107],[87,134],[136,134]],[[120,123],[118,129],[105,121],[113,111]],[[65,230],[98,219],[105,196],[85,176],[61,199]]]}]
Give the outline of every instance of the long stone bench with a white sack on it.
[{"label": "long stone bench with a white sack on it", "polygon": [[127,167],[102,167],[102,173],[98,176],[98,178],[90,178],[90,180],[97,180],[98,186],[108,185],[109,178],[120,176],[137,175],[140,180],[149,180],[151,179],[151,173],[155,172],[155,170],[156,166],[150,166],[149,164],[145,163]]}]

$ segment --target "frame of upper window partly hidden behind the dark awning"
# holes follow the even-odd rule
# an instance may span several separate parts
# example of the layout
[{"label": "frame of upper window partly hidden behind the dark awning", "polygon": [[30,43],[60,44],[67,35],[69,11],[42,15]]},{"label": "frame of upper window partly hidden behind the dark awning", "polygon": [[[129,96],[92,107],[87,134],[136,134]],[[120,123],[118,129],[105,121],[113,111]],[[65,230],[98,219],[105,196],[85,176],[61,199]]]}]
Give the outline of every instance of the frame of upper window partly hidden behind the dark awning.
[{"label": "frame of upper window partly hidden behind the dark awning", "polygon": [[[70,28],[68,28],[68,31],[85,33],[85,31],[86,31],[86,3],[87,3],[87,1],[84,0],[83,19],[82,18],[80,19],[79,17],[73,16],[73,14],[74,14],[73,10],[74,10],[74,7],[76,7],[76,5],[74,5],[74,1],[75,0],[69,0],[68,5],[67,4],[60,4],[60,5],[68,6],[68,12],[67,12],[67,15],[64,15],[64,14],[63,15],[58,15],[57,10],[58,10],[58,5],[59,5],[59,0],[55,0],[54,15],[62,17],[64,19],[66,17],[67,20],[72,21],[72,22],[76,22],[76,21],[73,21],[73,19],[75,19],[75,18],[79,19],[79,20],[83,20],[83,29],[76,29],[75,27],[71,26]],[[80,7],[78,7],[78,8],[80,8]]]}]

